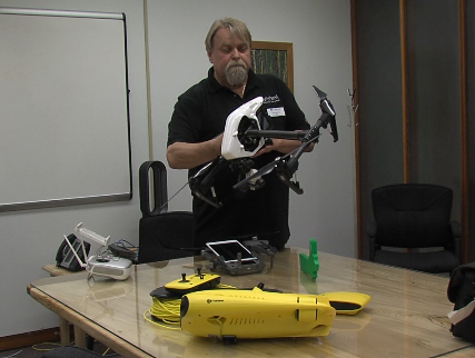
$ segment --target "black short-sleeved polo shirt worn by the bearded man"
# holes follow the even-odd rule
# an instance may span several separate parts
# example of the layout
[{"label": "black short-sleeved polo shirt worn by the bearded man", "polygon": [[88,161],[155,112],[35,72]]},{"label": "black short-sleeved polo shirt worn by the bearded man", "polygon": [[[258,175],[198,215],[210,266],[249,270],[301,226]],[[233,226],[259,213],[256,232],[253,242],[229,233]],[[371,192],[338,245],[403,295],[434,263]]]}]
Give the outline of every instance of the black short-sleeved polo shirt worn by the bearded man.
[{"label": "black short-sleeved polo shirt worn by the bearded man", "polygon": [[[222,87],[214,77],[214,68],[208,78],[182,93],[168,126],[168,146],[174,142],[202,142],[222,133],[230,112],[245,102],[261,96],[261,109],[267,113],[271,129],[308,130],[309,125],[288,87],[276,76],[255,74],[249,71],[244,98]],[[258,158],[254,168],[280,156],[270,152]],[[196,173],[199,168],[189,171]],[[215,178],[214,187],[221,208],[194,198],[192,210],[196,225],[196,245],[202,247],[208,241],[227,240],[235,237],[257,235],[269,240],[275,247],[283,247],[289,238],[288,200],[289,191],[273,172],[264,176],[264,188],[241,191],[232,189],[241,178],[226,167]]]}]

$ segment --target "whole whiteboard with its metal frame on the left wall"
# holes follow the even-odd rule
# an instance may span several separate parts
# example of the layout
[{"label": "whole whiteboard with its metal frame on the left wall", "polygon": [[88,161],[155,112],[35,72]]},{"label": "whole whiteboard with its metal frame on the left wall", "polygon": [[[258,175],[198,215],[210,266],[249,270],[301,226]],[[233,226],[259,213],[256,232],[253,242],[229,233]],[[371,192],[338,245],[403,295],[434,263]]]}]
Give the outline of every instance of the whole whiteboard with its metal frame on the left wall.
[{"label": "whole whiteboard with its metal frame on the left wall", "polygon": [[122,13],[0,8],[0,211],[132,196]]}]

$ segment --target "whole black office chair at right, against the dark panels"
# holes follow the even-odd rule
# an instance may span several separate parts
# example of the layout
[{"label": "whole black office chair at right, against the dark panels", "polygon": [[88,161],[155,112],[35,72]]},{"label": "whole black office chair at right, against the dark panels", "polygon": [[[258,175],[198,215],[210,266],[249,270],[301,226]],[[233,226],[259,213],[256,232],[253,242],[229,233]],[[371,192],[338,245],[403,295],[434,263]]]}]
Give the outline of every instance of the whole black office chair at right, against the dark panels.
[{"label": "whole black office chair at right, against the dark panels", "polygon": [[369,259],[432,274],[452,272],[462,262],[462,226],[451,221],[452,200],[452,189],[435,185],[374,189]]}]

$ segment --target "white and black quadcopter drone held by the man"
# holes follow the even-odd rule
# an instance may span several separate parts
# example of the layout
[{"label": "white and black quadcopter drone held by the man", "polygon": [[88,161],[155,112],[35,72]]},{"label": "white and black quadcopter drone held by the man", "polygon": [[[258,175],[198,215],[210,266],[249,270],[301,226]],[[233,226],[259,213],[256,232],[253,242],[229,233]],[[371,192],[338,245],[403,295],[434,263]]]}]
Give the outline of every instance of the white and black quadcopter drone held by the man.
[{"label": "white and black quadcopter drone held by the man", "polygon": [[[304,190],[297,180],[293,180],[298,169],[298,159],[309,145],[318,142],[320,128],[327,128],[334,142],[338,140],[336,127],[336,113],[327,99],[327,95],[317,87],[313,89],[320,100],[321,116],[308,131],[286,131],[267,129],[268,122],[264,113],[259,111],[263,97],[257,97],[232,111],[227,120],[221,145],[221,156],[205,165],[189,179],[191,192],[199,199],[214,207],[221,207],[216,197],[212,181],[225,166],[240,170],[245,179],[234,186],[234,189],[257,190],[264,185],[263,176],[276,171],[278,178],[298,195]],[[271,142],[273,138],[300,140],[301,145],[294,151],[276,158],[260,169],[251,169],[253,157],[259,149]]]}]

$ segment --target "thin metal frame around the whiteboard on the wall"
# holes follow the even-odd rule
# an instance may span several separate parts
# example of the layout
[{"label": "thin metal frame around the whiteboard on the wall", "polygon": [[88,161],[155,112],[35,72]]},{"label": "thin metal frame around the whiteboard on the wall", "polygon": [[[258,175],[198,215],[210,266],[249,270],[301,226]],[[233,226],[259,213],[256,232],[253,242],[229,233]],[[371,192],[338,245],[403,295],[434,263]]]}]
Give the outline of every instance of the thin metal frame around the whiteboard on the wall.
[{"label": "thin metal frame around the whiteboard on the wall", "polygon": [[126,108],[127,108],[127,138],[128,138],[128,167],[129,167],[129,191],[107,195],[95,195],[71,198],[56,198],[21,202],[0,202],[0,212],[32,210],[41,208],[53,208],[77,205],[90,205],[100,202],[126,201],[132,198],[132,166],[131,166],[131,140],[130,140],[130,99],[129,99],[129,76],[128,76],[128,51],[127,51],[127,26],[126,14],[115,12],[87,12],[68,10],[43,10],[26,8],[0,8],[0,14],[42,16],[42,17],[68,17],[68,18],[93,18],[120,20],[123,22],[123,51],[125,51],[125,80],[126,80]]}]

